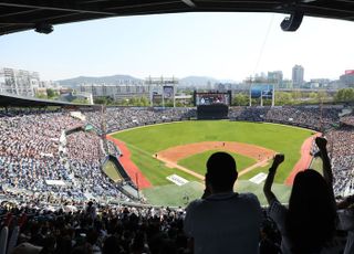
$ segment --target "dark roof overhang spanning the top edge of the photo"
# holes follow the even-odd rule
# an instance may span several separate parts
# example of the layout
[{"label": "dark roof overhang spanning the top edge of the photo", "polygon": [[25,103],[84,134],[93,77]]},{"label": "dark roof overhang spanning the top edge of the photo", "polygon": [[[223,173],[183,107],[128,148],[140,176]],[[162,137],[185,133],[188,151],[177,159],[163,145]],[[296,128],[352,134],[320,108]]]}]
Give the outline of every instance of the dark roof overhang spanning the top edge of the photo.
[{"label": "dark roof overhang spanning the top edge of the photo", "polygon": [[354,20],[354,2],[351,0],[4,0],[0,2],[0,35],[31,29],[49,33],[55,24],[111,17],[216,11],[300,12]]}]

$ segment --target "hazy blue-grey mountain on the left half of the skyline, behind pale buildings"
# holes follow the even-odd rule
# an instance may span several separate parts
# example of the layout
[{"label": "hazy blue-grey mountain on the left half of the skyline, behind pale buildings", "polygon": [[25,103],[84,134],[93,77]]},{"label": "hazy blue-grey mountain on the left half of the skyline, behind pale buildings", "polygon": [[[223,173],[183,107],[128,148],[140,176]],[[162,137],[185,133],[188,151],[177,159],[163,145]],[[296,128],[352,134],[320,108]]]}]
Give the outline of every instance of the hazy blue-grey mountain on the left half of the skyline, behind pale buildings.
[{"label": "hazy blue-grey mountain on the left half of the skyline, behind pale buildings", "polygon": [[83,83],[95,83],[95,84],[119,84],[122,82],[126,81],[134,81],[134,82],[139,82],[143,80],[129,76],[129,75],[113,75],[113,76],[100,76],[100,77],[93,77],[93,76],[79,76],[74,78],[69,78],[69,80],[62,80],[58,81],[60,85],[65,86],[65,87],[72,87],[75,88],[80,84]]}]

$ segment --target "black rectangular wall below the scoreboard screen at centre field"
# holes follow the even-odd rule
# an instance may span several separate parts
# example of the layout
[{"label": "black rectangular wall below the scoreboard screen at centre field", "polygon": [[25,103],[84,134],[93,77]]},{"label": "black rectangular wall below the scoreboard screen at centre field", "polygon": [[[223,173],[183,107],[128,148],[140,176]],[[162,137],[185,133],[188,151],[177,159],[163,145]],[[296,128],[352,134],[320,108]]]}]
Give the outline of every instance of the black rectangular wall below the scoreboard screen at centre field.
[{"label": "black rectangular wall below the scoreboard screen at centre field", "polygon": [[197,119],[226,119],[229,107],[225,104],[211,104],[197,106]]}]

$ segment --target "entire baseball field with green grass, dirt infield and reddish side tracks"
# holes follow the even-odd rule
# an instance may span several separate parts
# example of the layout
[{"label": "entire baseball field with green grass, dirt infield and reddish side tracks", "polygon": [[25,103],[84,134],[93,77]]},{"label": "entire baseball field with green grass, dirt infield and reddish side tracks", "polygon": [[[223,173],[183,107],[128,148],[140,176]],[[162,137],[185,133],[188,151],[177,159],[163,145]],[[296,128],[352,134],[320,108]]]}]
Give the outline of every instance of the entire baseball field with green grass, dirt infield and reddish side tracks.
[{"label": "entire baseball field with green grass, dirt infield and reddish side tracks", "polygon": [[[204,191],[208,157],[219,150],[237,161],[239,192],[266,203],[263,179],[277,152],[285,155],[273,191],[288,202],[293,174],[308,167],[314,131],[264,123],[195,120],[127,129],[110,135],[123,151],[121,161],[152,204],[185,205]],[[222,169],[220,169],[222,170]]]}]

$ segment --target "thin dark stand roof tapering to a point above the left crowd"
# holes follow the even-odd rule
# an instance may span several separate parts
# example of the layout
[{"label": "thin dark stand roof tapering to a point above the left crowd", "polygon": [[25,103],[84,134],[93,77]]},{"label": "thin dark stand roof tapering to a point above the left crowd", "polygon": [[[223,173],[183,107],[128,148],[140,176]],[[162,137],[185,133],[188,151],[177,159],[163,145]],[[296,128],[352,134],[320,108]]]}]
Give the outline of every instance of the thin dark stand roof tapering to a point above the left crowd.
[{"label": "thin dark stand roof tapering to a point above the left crowd", "polygon": [[9,95],[0,93],[0,107],[95,107],[97,105],[90,104],[73,104],[56,102],[51,99],[30,98],[19,95]]}]

